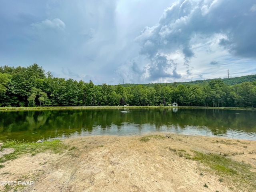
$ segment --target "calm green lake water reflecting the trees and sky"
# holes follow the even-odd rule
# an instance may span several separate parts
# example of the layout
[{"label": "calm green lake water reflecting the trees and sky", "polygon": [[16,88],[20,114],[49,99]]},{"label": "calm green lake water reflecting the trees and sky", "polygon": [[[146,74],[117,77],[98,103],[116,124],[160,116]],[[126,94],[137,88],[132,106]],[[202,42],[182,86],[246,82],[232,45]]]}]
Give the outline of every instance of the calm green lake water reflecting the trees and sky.
[{"label": "calm green lake water reflecting the trees and sky", "polygon": [[256,140],[256,112],[180,108],[0,112],[2,141],[152,132]]}]

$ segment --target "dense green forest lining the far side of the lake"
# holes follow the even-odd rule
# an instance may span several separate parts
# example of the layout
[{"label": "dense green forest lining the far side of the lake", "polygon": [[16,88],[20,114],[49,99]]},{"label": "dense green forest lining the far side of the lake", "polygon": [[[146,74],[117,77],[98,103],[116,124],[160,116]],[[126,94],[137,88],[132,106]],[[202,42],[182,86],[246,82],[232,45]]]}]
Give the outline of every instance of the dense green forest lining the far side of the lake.
[{"label": "dense green forest lining the far side of the lake", "polygon": [[162,84],[94,85],[53,77],[32,64],[0,67],[0,106],[179,106],[256,105],[256,75]]}]

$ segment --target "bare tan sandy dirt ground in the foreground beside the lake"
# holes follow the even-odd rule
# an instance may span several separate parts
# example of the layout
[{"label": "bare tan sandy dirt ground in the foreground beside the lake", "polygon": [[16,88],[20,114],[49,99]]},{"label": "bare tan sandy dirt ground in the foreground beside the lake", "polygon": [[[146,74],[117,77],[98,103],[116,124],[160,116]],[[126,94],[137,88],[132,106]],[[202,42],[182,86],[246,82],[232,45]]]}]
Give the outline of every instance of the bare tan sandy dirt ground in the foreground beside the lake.
[{"label": "bare tan sandy dirt ground in the foreground beside the lake", "polygon": [[[24,192],[228,192],[244,191],[228,178],[200,162],[180,157],[169,148],[228,154],[238,162],[256,168],[256,141],[230,140],[205,136],[155,134],[143,136],[85,136],[63,140],[68,149],[62,154],[26,154],[3,163],[2,181],[33,181],[10,191]],[[216,142],[216,140],[223,142]],[[227,144],[227,142],[236,144]],[[243,154],[242,154],[243,152]],[[239,154],[240,153],[240,154]],[[204,186],[206,184],[208,188]],[[0,186],[4,191],[4,186]]]}]

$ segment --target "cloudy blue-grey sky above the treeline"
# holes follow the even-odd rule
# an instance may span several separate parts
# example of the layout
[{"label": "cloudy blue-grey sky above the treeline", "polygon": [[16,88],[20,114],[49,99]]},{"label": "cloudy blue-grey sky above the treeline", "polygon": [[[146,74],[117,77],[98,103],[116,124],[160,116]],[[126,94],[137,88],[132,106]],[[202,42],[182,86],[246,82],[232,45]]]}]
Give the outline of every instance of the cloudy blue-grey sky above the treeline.
[{"label": "cloudy blue-grey sky above the treeline", "polygon": [[94,84],[256,74],[256,0],[0,0],[0,66]]}]

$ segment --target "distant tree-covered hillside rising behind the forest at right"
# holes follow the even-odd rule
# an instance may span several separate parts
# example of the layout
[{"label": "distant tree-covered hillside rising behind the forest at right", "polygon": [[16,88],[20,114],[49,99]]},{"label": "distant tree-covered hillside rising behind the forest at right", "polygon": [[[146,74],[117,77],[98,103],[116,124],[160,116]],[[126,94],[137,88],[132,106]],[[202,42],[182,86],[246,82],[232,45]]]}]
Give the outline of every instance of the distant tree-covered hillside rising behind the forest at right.
[{"label": "distant tree-covered hillside rising behind the forest at right", "polygon": [[[218,78],[223,80],[223,82],[227,85],[235,85],[235,84],[240,84],[242,82],[253,82],[256,81],[256,75],[246,75],[246,76],[241,76],[241,77],[232,77],[232,78]],[[190,82],[176,82],[176,84],[182,84],[182,85],[189,85],[189,84],[207,84],[210,82],[210,80],[217,80],[217,79],[206,79],[206,80],[195,80],[195,81],[190,81]],[[156,83],[149,83],[149,84],[141,84],[145,87],[153,87]],[[159,84],[159,83],[158,83]],[[162,83],[162,84],[174,84],[174,83]],[[124,87],[129,87],[129,86],[135,86],[138,84],[122,84]]]}]

